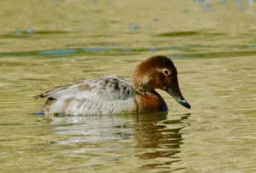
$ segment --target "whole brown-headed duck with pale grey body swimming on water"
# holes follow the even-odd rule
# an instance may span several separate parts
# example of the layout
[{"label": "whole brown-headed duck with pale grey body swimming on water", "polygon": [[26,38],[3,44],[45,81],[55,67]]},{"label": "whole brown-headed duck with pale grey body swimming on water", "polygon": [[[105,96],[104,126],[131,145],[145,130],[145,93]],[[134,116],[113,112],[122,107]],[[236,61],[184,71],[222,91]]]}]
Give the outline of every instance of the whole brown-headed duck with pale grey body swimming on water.
[{"label": "whole brown-headed duck with pale grey body swimming on water", "polygon": [[168,112],[166,101],[155,89],[190,108],[179,89],[177,68],[165,55],[139,63],[131,82],[108,75],[49,89],[34,98],[47,98],[41,110],[47,116]]}]

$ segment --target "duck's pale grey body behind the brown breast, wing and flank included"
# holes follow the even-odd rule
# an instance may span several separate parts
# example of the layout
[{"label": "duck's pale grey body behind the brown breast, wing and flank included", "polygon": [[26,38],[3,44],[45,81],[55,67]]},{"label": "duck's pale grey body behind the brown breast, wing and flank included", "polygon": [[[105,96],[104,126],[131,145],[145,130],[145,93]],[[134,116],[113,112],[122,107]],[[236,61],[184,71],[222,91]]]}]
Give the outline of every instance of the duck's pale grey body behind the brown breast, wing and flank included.
[{"label": "duck's pale grey body behind the brown breast, wing and flank included", "polygon": [[123,78],[105,76],[49,90],[45,114],[95,115],[136,112],[135,91]]}]

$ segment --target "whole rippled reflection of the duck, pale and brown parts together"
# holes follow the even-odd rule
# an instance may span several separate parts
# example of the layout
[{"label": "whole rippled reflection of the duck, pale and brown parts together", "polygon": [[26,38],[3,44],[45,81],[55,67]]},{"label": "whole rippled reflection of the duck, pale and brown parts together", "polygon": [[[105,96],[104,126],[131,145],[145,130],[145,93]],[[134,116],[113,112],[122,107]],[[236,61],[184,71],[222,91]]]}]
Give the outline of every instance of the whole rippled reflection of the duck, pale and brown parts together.
[{"label": "whole rippled reflection of the duck, pale and brown parts together", "polygon": [[[189,125],[187,118],[189,114],[160,113],[53,118],[54,133],[66,138],[54,143],[72,146],[68,152],[108,153],[112,159],[127,158],[129,153],[140,160],[138,166],[143,169],[168,168],[179,161],[176,153],[183,144],[180,130]],[[103,158],[99,156],[100,164],[107,164]]]}]

